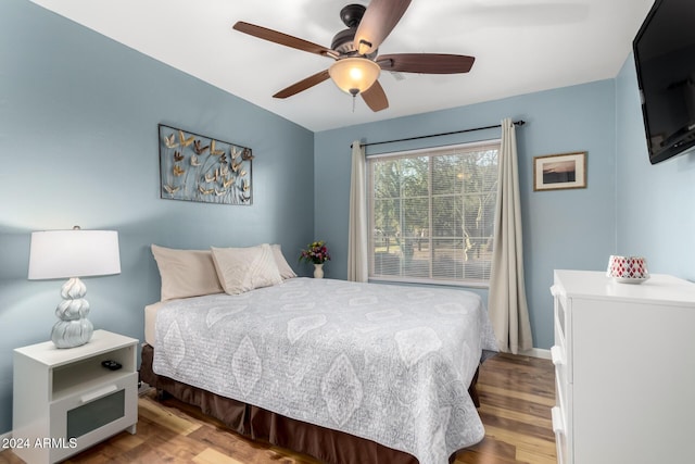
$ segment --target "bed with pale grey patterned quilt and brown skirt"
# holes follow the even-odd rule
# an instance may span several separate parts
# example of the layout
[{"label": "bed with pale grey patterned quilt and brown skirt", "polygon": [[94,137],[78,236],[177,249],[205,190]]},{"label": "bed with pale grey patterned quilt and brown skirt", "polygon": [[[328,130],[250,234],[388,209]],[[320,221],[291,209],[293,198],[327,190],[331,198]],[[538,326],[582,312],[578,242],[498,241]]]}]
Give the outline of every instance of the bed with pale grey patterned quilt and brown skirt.
[{"label": "bed with pale grey patterned quilt and brown skirt", "polygon": [[[280,278],[258,286],[249,278],[265,266],[258,259],[239,271],[216,261],[219,251],[212,274],[224,291],[163,292],[146,308],[143,381],[327,463],[441,464],[483,438],[471,391],[496,347],[480,297],[296,277],[279,248]],[[265,254],[273,268],[273,249]]]}]

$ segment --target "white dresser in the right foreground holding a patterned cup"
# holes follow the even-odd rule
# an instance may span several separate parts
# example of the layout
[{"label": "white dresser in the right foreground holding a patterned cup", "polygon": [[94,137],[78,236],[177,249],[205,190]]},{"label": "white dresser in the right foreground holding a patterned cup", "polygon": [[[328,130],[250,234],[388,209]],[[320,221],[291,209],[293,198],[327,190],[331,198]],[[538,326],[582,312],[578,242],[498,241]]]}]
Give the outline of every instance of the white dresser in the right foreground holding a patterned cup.
[{"label": "white dresser in the right foreground holding a patterned cup", "polygon": [[555,271],[559,464],[695,462],[695,284]]}]

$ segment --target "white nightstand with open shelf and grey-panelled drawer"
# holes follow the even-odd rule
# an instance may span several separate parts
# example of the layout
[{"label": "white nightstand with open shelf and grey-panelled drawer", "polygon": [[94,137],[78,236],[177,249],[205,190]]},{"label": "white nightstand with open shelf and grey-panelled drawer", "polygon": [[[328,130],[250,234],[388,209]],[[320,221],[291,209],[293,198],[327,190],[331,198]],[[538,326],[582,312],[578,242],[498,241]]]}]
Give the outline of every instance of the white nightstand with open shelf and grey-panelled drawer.
[{"label": "white nightstand with open shelf and grey-panelled drawer", "polygon": [[[138,422],[138,340],[94,330],[87,344],[53,342],[14,350],[13,451],[28,463],[53,463]],[[121,368],[109,369],[104,361]]]}]

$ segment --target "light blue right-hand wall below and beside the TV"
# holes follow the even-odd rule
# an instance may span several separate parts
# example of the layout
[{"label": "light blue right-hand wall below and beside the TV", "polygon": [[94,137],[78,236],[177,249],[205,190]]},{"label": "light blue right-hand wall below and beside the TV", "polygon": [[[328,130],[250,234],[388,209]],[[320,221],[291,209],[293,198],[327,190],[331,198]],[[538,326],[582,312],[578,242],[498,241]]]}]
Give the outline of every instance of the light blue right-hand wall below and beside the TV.
[{"label": "light blue right-hand wall below and beside the TV", "polygon": [[632,57],[616,87],[618,252],[645,256],[652,273],[695,280],[695,154],[649,164]]}]

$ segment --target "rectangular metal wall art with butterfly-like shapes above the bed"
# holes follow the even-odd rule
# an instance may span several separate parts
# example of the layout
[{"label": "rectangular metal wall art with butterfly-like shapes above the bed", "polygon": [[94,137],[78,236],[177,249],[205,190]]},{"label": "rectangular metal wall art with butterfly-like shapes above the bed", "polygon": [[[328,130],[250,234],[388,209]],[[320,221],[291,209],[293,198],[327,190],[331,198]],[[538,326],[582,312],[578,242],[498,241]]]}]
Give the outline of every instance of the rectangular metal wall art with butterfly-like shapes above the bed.
[{"label": "rectangular metal wall art with butterfly-like shapes above the bed", "polygon": [[250,148],[159,125],[160,195],[167,200],[253,201]]}]

